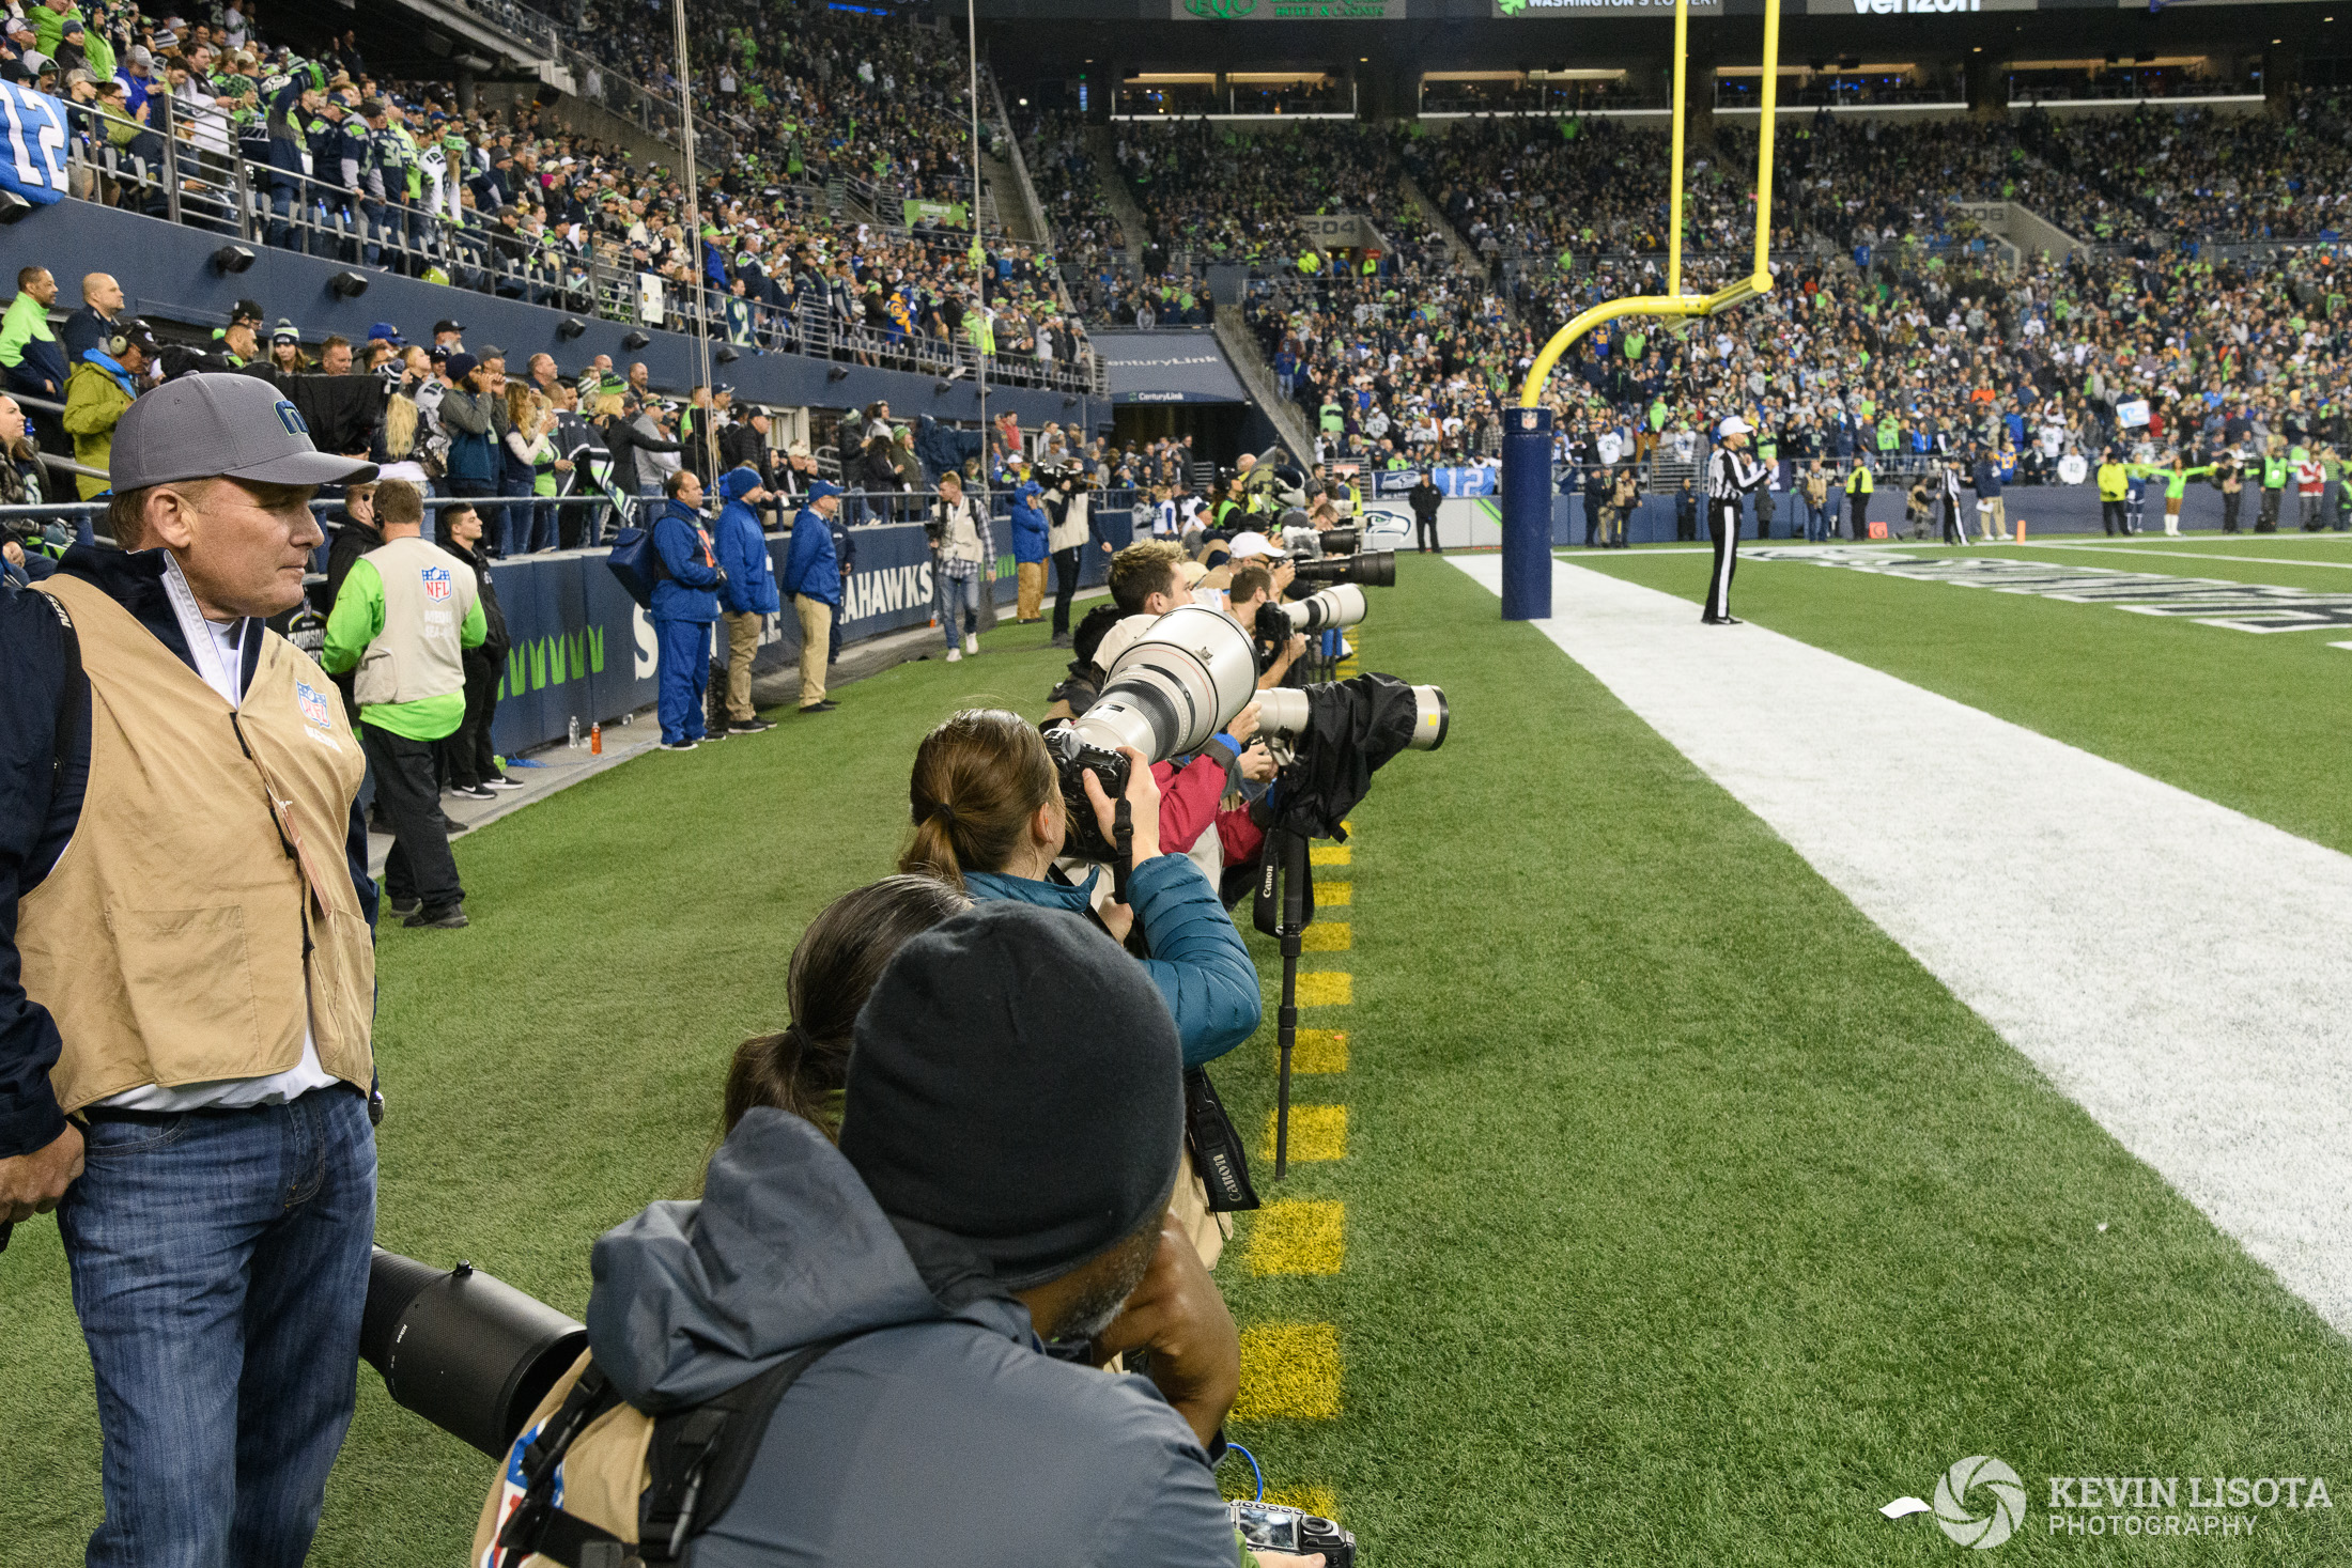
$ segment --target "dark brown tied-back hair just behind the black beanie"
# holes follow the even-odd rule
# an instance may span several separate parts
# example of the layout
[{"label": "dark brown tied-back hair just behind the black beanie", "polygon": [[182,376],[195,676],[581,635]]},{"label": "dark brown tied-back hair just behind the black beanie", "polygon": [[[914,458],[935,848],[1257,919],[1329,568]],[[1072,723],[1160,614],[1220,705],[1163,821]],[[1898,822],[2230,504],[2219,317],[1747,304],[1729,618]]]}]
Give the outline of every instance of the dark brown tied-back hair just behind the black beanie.
[{"label": "dark brown tied-back hair just behind the black beanie", "polygon": [[908,938],[969,907],[962,891],[931,877],[884,877],[826,905],[793,947],[786,980],[793,1023],[781,1034],[755,1034],[736,1046],[727,1067],[724,1131],[767,1105],[840,1138],[849,1034],[882,966]]}]

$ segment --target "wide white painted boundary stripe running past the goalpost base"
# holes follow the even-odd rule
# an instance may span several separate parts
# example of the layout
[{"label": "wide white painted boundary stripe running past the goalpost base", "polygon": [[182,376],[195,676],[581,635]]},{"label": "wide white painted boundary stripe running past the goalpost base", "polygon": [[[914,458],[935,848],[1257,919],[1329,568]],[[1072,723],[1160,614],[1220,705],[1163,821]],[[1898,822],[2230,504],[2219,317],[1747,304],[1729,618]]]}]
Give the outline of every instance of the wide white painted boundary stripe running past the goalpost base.
[{"label": "wide white painted boundary stripe running past the goalpost base", "polygon": [[[1454,564],[1501,592],[1501,559]],[[1599,571],[1555,564],[1552,611],[1545,637],[2352,1333],[2352,856]],[[1835,804],[1926,783],[1955,806]]]}]

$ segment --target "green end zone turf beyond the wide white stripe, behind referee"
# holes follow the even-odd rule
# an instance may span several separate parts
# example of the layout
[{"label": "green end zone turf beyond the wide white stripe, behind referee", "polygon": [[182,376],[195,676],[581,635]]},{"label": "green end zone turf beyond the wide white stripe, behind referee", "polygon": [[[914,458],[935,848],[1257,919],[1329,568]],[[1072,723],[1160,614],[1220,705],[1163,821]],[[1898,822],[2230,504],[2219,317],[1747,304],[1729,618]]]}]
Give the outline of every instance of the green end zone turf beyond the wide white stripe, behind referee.
[{"label": "green end zone turf beyond the wide white stripe, behind referee", "polygon": [[[2333,534],[2206,538],[2213,543],[2166,545],[2140,536],[2131,541],[2131,555],[2105,545],[1985,545],[1976,555],[2352,592],[2352,571],[2343,569],[2213,559],[2328,559],[2333,552],[2352,567],[2352,548],[2324,543],[2338,538]],[[1788,545],[1773,541],[1773,548]],[[1896,545],[1896,552],[1929,559],[1962,555],[1910,543]],[[1564,550],[1562,559],[1691,604],[1708,590],[1708,555]],[[1759,562],[1745,550],[1733,611],[2190,795],[2352,851],[2352,792],[2340,788],[2343,736],[2352,731],[2352,649],[2328,646],[2352,639],[2352,630],[2258,635],[2136,616],[2112,604]],[[1736,668],[1731,679],[1738,679]],[[1931,809],[1929,783],[1922,780],[1912,802],[1858,804]],[[2096,811],[2098,802],[2086,799],[2084,809]]]}]

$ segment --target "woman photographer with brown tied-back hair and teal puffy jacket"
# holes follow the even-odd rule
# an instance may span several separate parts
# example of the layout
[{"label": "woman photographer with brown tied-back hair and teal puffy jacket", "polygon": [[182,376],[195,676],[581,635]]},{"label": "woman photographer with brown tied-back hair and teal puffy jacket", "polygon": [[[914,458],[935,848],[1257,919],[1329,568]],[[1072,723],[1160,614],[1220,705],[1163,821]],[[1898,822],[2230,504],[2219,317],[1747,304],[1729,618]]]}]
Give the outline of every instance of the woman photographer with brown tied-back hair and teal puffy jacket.
[{"label": "woman photographer with brown tied-back hair and teal puffy jacket", "polygon": [[[1141,922],[1150,952],[1143,966],[1176,1016],[1185,1067],[1200,1067],[1258,1030],[1258,971],[1200,867],[1162,853],[1152,769],[1141,752],[1127,752],[1127,764],[1131,903],[1096,912],[1094,889],[1105,867],[1080,884],[1054,867],[1068,827],[1054,757],[1028,719],[997,708],[957,712],[922,738],[908,783],[915,842],[898,870],[938,877],[978,900],[1094,914],[1122,943]],[[1087,799],[1112,837],[1115,804],[1091,771]]]}]

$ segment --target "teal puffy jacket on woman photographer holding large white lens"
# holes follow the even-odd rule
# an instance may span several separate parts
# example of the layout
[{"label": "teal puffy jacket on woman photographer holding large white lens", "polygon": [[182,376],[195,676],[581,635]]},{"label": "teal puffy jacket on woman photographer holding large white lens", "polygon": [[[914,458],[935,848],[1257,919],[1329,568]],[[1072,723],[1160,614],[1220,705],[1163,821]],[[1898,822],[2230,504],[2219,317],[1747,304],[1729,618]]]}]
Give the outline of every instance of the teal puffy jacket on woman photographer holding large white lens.
[{"label": "teal puffy jacket on woman photographer holding large white lens", "polygon": [[[1101,875],[1096,867],[1082,884],[1070,886],[964,872],[964,891],[974,898],[1014,898],[1084,914]],[[1232,929],[1232,917],[1225,914],[1202,870],[1183,856],[1155,856],[1127,879],[1127,896],[1152,945],[1143,969],[1176,1016],[1183,1065],[1211,1063],[1256,1034],[1263,1011],[1258,966],[1249,961],[1242,933]]]}]

